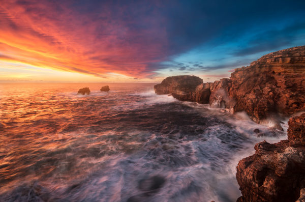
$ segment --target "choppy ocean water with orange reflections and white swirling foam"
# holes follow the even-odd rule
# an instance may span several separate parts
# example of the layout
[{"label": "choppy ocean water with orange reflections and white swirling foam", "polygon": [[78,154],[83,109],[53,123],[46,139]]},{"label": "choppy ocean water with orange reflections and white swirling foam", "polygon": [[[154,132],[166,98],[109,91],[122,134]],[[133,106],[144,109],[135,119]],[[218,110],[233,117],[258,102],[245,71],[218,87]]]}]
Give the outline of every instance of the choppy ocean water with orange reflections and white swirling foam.
[{"label": "choppy ocean water with orange reflections and white swirling foam", "polygon": [[0,83],[0,201],[236,201],[238,161],[287,138],[151,83],[103,85]]}]

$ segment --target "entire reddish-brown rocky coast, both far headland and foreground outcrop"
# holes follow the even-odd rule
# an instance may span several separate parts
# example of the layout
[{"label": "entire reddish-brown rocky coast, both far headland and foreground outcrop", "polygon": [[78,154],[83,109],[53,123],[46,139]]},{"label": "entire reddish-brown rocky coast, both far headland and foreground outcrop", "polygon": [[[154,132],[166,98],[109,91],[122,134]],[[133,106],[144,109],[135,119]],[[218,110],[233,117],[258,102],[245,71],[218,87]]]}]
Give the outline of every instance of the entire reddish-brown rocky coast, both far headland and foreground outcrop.
[{"label": "entire reddish-brown rocky coast, both far headland and foreground outcrop", "polygon": [[[215,82],[167,77],[155,85],[155,92],[232,113],[246,111],[256,123],[283,130],[282,118],[305,110],[305,46],[266,54]],[[238,202],[305,201],[305,113],[288,124],[288,140],[260,142],[254,155],[239,161]]]}]

